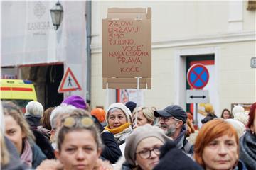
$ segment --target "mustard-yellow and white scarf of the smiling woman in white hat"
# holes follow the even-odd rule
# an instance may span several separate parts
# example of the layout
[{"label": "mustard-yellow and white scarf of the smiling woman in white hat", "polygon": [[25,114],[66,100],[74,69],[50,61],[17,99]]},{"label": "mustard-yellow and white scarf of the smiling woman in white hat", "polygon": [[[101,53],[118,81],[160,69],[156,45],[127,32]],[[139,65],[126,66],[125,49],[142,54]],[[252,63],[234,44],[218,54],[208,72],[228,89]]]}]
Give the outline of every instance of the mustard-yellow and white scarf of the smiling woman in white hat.
[{"label": "mustard-yellow and white scarf of the smiling woman in white hat", "polygon": [[107,125],[105,130],[110,131],[114,135],[114,140],[118,145],[122,145],[125,138],[132,132],[132,127],[130,125],[131,123],[125,123],[124,125],[114,129],[110,129],[110,125]]}]

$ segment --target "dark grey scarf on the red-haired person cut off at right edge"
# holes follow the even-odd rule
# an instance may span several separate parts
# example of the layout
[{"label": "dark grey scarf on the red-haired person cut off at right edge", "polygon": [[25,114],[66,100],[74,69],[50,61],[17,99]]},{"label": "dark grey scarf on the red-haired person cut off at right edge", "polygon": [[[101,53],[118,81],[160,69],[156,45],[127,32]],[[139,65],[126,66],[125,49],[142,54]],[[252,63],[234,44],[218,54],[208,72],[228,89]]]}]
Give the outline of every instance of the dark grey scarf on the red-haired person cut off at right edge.
[{"label": "dark grey scarf on the red-haired person cut off at right edge", "polygon": [[256,167],[256,135],[250,130],[240,137],[239,159],[245,163],[247,169],[255,169]]}]

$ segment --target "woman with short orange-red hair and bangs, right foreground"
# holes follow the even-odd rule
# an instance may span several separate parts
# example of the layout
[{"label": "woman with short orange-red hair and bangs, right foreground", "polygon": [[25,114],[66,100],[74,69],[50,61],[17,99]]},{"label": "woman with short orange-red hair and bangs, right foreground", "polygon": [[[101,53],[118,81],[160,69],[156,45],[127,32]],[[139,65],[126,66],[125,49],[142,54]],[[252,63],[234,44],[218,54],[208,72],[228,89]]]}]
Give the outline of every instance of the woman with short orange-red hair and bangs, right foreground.
[{"label": "woman with short orange-red hair and bangs, right foreground", "polygon": [[196,162],[206,170],[245,170],[245,165],[238,159],[238,142],[238,134],[232,125],[223,119],[210,120],[196,137]]}]

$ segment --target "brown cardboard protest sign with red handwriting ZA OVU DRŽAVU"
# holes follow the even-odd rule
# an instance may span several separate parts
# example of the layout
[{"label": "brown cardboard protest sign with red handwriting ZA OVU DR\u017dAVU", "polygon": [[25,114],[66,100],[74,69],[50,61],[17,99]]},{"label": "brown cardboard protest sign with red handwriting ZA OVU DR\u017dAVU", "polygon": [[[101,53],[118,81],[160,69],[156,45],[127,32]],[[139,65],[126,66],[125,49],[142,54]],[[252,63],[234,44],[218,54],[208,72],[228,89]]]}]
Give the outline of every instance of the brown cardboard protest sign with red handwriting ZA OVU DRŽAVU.
[{"label": "brown cardboard protest sign with red handwriting ZA OVU DR\u017dAVU", "polygon": [[110,8],[102,20],[103,88],[151,89],[151,8]]}]

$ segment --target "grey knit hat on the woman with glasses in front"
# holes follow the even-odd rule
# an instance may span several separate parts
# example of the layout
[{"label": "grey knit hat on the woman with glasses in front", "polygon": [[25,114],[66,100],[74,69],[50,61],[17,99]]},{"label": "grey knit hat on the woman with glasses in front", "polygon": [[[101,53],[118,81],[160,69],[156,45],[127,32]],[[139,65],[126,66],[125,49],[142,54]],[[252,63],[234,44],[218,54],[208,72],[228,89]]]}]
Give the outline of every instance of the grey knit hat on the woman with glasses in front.
[{"label": "grey knit hat on the woman with glasses in front", "polygon": [[166,141],[171,140],[170,137],[167,137],[164,134],[163,130],[156,126],[146,124],[134,129],[134,131],[125,139],[126,146],[124,149],[124,157],[132,166],[135,166],[135,153],[139,142],[147,137],[156,137],[161,140],[163,144]]}]

